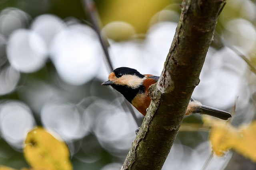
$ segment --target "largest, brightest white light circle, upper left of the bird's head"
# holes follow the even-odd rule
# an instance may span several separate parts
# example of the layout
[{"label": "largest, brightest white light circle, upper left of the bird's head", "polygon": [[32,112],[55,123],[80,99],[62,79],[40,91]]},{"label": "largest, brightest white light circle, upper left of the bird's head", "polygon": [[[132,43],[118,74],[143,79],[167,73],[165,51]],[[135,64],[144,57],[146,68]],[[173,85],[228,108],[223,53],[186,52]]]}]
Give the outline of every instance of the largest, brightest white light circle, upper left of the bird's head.
[{"label": "largest, brightest white light circle, upper left of the bird's head", "polygon": [[71,25],[60,31],[50,48],[58,74],[72,85],[84,84],[97,74],[101,54],[95,32],[86,25]]}]

